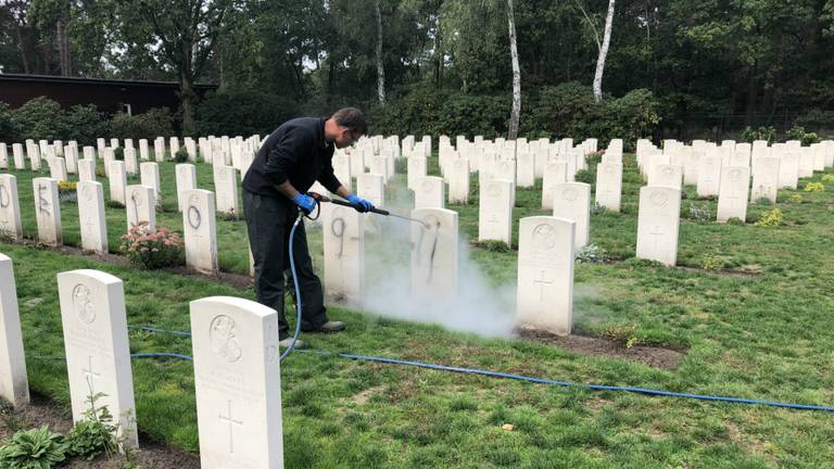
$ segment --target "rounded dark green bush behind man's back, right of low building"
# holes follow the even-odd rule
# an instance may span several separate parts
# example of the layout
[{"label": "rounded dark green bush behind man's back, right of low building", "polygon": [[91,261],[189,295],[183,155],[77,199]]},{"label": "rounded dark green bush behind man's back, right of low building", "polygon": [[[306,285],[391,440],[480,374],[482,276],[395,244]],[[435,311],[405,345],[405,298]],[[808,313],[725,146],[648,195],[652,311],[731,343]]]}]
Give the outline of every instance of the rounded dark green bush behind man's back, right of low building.
[{"label": "rounded dark green bush behind man's back, right of low building", "polygon": [[296,104],[278,94],[256,90],[217,92],[197,107],[194,132],[265,136],[292,117],[298,117]]}]

